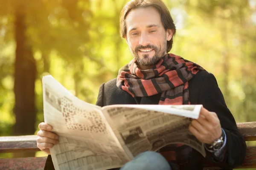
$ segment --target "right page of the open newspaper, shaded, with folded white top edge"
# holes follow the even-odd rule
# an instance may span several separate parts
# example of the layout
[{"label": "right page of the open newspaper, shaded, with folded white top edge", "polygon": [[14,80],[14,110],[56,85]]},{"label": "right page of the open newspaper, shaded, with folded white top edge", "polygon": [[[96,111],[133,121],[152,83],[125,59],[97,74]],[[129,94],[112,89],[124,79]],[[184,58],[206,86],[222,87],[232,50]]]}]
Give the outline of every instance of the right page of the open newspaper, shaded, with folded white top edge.
[{"label": "right page of the open newspaper, shaded, with folded white top edge", "polygon": [[103,111],[131,159],[139,153],[157,151],[169,144],[186,144],[206,156],[203,143],[189,131],[192,118],[198,118],[201,107],[202,105],[114,105],[103,107]]}]

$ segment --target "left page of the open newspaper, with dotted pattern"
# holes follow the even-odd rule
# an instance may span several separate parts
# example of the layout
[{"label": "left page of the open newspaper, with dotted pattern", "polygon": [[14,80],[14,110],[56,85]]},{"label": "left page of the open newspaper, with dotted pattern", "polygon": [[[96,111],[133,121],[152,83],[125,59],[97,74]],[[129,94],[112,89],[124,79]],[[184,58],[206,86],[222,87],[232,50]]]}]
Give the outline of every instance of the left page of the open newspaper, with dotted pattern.
[{"label": "left page of the open newspaper, with dotted pattern", "polygon": [[55,170],[106,170],[130,160],[101,107],[76,98],[50,75],[42,82],[44,121],[59,136],[50,149]]}]

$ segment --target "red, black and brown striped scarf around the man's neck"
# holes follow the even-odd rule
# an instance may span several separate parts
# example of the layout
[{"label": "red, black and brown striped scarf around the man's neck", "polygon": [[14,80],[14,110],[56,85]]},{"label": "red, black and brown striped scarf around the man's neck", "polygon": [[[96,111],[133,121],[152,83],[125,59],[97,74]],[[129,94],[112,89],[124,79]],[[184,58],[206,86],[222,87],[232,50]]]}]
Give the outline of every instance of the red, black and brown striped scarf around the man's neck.
[{"label": "red, black and brown striped scarf around the man's neck", "polygon": [[[116,85],[133,97],[161,93],[159,105],[189,105],[188,81],[203,70],[200,65],[175,54],[166,54],[148,70],[140,70],[136,59],[132,59],[119,70]],[[160,150],[167,161],[179,165],[186,164],[190,151],[191,148],[183,144],[169,145]]]}]

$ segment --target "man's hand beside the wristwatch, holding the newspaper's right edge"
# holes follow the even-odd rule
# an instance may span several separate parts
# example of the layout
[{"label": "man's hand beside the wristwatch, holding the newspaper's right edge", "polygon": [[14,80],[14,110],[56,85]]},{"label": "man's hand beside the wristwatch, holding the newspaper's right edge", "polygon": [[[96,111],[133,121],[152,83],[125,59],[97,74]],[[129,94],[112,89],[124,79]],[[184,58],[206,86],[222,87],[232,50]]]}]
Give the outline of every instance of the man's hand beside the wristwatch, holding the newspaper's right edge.
[{"label": "man's hand beside the wristwatch, holding the newspaper's right edge", "polygon": [[194,119],[189,126],[190,132],[202,143],[212,144],[222,135],[221,124],[214,112],[201,108],[198,119]]}]

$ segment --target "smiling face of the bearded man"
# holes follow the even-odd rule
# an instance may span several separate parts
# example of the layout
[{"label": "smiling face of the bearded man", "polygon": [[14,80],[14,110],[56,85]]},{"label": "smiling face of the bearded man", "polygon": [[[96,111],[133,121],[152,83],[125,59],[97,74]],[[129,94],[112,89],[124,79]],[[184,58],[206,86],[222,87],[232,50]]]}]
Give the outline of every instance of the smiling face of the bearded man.
[{"label": "smiling face of the bearded man", "polygon": [[137,8],[125,19],[126,41],[139,65],[153,66],[166,54],[172,30],[165,30],[159,12],[154,7]]}]

